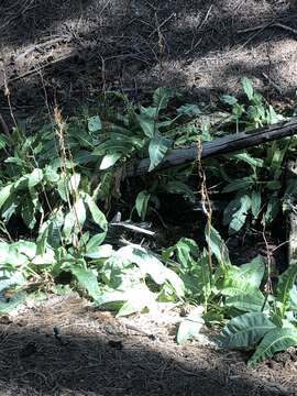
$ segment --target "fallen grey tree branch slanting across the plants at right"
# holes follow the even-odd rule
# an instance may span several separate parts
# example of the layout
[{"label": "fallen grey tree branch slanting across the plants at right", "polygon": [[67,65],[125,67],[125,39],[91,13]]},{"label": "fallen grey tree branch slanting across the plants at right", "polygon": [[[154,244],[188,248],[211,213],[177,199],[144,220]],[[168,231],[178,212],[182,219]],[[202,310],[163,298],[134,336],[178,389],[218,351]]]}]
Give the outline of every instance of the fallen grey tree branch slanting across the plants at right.
[{"label": "fallen grey tree branch slanting across the plants at right", "polygon": [[[228,154],[240,150],[256,146],[286,136],[297,134],[297,117],[288,122],[273,124],[252,131],[240,132],[206,142],[202,144],[201,158],[213,157],[220,154]],[[160,170],[170,166],[190,163],[197,158],[197,146],[174,148],[165,155],[163,162],[154,169]],[[142,176],[148,173],[150,158],[140,160],[135,164],[127,166],[127,176]]]}]

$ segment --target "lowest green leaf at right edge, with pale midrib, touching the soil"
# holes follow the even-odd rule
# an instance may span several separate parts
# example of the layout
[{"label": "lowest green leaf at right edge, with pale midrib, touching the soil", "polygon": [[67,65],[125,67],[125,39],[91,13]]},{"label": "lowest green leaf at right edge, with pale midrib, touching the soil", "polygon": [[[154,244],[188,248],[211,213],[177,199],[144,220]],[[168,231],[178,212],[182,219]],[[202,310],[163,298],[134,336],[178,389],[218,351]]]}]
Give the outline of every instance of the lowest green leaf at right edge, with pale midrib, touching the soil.
[{"label": "lowest green leaf at right edge, with pale midrib, touching the soil", "polygon": [[253,367],[265,359],[272,358],[276,352],[286,351],[288,348],[296,345],[297,329],[272,329],[264,336],[248,365]]}]

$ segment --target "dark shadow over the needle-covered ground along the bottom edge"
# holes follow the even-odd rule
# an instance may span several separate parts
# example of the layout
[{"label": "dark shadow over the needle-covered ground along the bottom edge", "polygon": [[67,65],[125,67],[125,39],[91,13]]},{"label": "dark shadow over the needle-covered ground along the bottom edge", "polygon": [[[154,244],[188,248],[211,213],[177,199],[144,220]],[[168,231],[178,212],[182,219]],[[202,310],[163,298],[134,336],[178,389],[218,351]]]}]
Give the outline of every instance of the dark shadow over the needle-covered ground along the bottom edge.
[{"label": "dark shadow over the needle-covered ground along the bottom edge", "polygon": [[173,352],[162,342],[102,337],[87,328],[80,333],[66,330],[59,340],[44,328],[12,324],[1,330],[3,396],[293,395],[251,372],[240,372],[235,367],[242,367],[242,361],[213,351],[198,351],[194,360],[190,349]]}]

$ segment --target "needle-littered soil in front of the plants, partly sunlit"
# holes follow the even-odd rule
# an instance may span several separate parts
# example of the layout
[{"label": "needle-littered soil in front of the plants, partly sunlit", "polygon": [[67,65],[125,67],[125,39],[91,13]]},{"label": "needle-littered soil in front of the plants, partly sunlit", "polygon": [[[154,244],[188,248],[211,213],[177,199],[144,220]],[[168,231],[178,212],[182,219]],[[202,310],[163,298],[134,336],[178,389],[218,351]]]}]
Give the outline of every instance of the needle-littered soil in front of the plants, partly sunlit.
[{"label": "needle-littered soil in front of the plants, partly sunlit", "polygon": [[116,319],[70,295],[1,317],[0,395],[297,395],[296,350],[249,370],[204,339],[178,346],[169,308]]}]

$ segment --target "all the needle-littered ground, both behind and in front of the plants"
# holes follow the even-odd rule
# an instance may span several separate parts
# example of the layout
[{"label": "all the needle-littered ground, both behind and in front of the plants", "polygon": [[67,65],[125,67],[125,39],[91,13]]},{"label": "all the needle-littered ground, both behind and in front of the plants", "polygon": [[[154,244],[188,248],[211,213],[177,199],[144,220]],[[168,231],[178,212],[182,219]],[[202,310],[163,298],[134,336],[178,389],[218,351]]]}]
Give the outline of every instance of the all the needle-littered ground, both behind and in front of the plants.
[{"label": "all the needle-littered ground, both behind and in front of the plants", "polygon": [[[296,18],[285,0],[2,0],[0,113],[10,124],[8,99],[28,118],[114,88],[141,98],[173,86],[212,100],[237,92],[243,75],[290,100]],[[0,395],[297,395],[295,350],[248,370],[248,355],[177,346],[178,318],[124,322],[77,297],[0,317]]]}]

